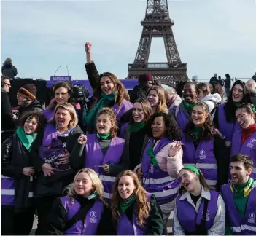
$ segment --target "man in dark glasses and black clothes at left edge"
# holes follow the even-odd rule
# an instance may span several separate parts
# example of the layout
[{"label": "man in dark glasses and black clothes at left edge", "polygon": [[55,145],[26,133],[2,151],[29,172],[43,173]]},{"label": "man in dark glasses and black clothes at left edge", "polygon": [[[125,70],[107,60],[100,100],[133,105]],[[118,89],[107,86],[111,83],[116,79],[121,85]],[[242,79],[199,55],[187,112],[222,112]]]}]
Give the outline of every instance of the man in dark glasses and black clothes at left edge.
[{"label": "man in dark glasses and black clothes at left edge", "polygon": [[1,76],[1,143],[12,135],[12,130],[15,128],[15,119],[8,97],[10,87],[9,78]]}]

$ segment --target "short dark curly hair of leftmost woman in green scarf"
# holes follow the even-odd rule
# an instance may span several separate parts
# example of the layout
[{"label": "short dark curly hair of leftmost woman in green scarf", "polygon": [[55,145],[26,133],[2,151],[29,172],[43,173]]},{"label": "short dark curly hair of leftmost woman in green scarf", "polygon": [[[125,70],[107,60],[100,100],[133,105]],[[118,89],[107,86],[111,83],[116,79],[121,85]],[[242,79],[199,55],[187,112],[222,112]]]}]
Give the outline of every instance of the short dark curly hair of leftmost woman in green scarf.
[{"label": "short dark curly hair of leftmost woman in green scarf", "polygon": [[44,114],[40,111],[27,111],[25,112],[22,117],[20,117],[19,125],[20,127],[24,127],[24,124],[28,118],[33,119],[33,117],[36,118],[36,121],[38,123],[37,126],[37,133],[43,133],[44,132],[44,125],[46,124],[46,119],[44,118]]}]

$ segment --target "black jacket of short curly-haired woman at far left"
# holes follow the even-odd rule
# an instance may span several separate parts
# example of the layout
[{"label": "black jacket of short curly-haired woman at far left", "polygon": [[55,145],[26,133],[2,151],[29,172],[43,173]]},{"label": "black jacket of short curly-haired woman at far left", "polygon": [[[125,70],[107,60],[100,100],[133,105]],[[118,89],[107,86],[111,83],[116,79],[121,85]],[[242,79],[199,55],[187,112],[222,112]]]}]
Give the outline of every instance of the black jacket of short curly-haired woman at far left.
[{"label": "black jacket of short curly-haired woman at far left", "polygon": [[1,144],[1,174],[15,178],[15,208],[27,208],[32,204],[28,194],[34,191],[33,185],[30,176],[24,176],[22,171],[25,167],[33,166],[35,156],[32,150],[41,145],[41,137],[37,135],[31,152],[23,146],[16,133]]}]

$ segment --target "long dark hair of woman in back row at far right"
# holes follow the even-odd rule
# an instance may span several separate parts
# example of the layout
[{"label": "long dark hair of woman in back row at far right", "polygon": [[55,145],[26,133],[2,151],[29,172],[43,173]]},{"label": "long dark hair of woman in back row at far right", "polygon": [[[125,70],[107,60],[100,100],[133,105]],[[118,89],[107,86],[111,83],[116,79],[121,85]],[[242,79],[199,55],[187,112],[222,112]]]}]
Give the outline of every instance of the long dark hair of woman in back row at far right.
[{"label": "long dark hair of woman in back row at far right", "polygon": [[249,97],[249,93],[247,93],[247,88],[245,87],[245,83],[241,80],[237,80],[234,82],[231,90],[230,95],[228,96],[228,101],[224,105],[225,117],[226,121],[229,123],[236,122],[236,105],[233,103],[233,89],[234,87],[239,84],[243,88],[244,97],[241,100],[241,103],[252,103],[251,98]]}]

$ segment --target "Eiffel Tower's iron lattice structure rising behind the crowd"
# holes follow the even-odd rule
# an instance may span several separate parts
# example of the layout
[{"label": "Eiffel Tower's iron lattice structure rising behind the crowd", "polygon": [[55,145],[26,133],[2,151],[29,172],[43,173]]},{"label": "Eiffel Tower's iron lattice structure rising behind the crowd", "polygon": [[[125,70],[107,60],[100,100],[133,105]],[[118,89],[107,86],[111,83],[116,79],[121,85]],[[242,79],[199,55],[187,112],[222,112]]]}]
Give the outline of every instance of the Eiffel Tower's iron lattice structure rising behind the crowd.
[{"label": "Eiffel Tower's iron lattice structure rising behind the crowd", "polygon": [[[147,9],[139,47],[133,64],[128,65],[128,78],[137,79],[140,74],[152,74],[163,84],[187,80],[187,64],[182,63],[174,39],[173,20],[169,17],[167,0],[147,0]],[[167,63],[148,63],[152,37],[163,37]]]}]

